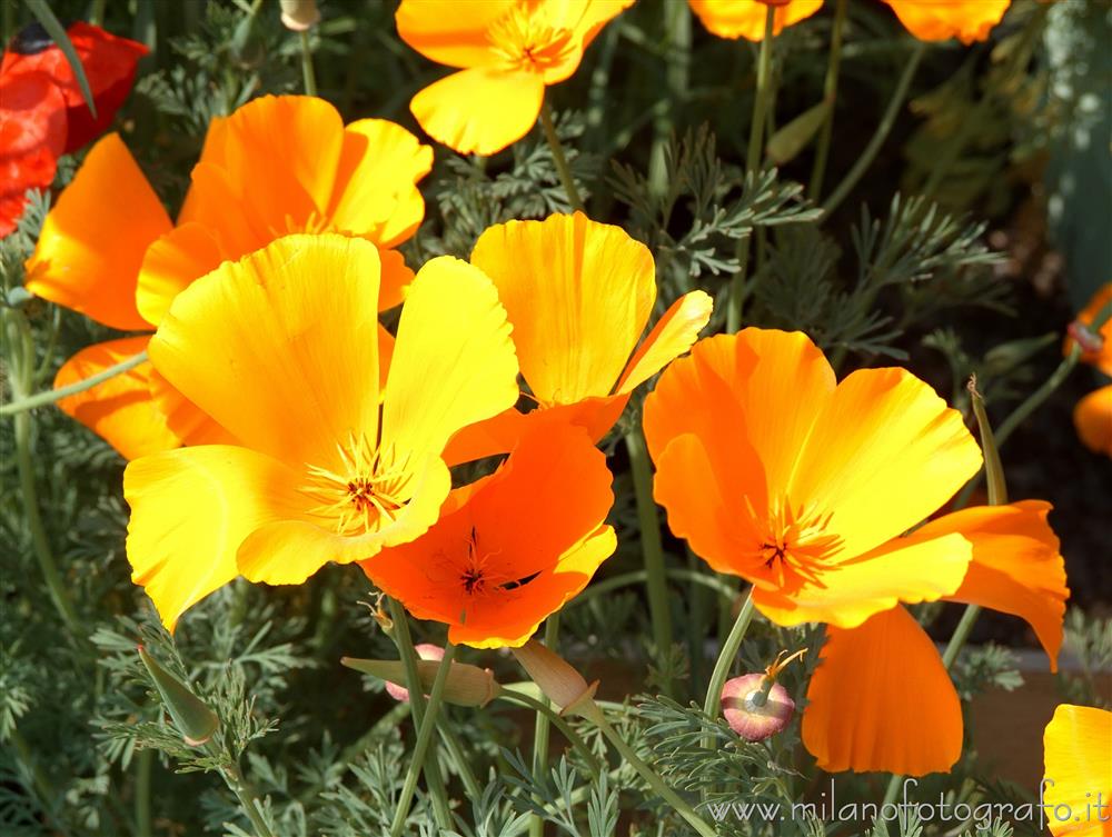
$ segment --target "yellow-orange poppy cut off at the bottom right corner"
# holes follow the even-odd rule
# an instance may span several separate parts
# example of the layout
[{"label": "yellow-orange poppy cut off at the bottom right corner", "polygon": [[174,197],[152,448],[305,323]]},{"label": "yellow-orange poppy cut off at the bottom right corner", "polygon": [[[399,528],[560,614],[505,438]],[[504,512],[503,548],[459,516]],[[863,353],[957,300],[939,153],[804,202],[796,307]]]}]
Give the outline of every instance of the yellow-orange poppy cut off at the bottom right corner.
[{"label": "yellow-orange poppy cut off at the bottom right corner", "polygon": [[1043,733],[1042,804],[1054,837],[1112,836],[1112,713],[1062,704]]}]

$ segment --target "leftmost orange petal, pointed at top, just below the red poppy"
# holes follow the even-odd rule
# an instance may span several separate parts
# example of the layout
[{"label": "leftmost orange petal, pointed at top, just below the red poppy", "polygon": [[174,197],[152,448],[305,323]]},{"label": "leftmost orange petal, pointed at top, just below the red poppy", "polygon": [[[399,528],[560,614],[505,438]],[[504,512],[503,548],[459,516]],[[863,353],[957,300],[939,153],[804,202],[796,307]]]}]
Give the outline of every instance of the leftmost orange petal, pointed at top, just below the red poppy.
[{"label": "leftmost orange petal, pointed at top, just below the red poppy", "polygon": [[109,133],[47,215],[27,261],[27,289],[112,328],[148,329],[136,308],[136,281],[147,248],[169,229],[131,152]]}]

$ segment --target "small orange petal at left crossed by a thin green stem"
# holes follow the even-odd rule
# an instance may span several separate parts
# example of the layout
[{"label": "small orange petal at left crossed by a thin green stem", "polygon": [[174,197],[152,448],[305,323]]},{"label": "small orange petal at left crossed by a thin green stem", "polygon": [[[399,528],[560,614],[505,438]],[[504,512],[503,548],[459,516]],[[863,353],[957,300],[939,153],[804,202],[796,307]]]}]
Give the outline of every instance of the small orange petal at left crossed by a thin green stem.
[{"label": "small orange petal at left crossed by a thin green stem", "polygon": [[[147,348],[149,337],[126,337],[82,349],[54,377],[54,389],[85,380]],[[170,450],[181,440],[167,426],[151,397],[150,361],[92,389],[59,399],[58,407],[116,448],[125,459]]]}]

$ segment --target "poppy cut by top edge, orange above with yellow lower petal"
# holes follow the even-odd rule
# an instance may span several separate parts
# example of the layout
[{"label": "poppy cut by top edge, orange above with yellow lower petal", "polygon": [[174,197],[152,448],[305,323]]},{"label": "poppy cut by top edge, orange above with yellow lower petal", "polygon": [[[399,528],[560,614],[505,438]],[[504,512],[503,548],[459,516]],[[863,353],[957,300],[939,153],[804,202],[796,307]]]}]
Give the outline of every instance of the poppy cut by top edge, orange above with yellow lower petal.
[{"label": "poppy cut by top edge, orange above with yellow lower petal", "polygon": [[566,80],[602,28],[633,0],[401,0],[401,40],[447,78],[409,109],[438,142],[460,153],[493,155],[536,124],[545,87]]}]

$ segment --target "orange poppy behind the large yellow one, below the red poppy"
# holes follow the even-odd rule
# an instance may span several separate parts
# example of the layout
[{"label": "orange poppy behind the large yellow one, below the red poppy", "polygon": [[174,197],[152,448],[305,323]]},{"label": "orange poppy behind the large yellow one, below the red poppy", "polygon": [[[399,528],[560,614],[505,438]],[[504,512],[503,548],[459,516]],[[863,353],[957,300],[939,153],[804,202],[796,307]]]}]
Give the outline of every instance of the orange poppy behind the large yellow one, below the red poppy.
[{"label": "orange poppy behind the large yellow one, below the red poppy", "polygon": [[[431,159],[428,146],[393,122],[345,128],[322,99],[267,96],[212,121],[173,226],[127,147],[109,134],[47,216],[27,262],[27,288],[106,326],[149,331],[181,290],[221,262],[289,232],[337,231],[378,246],[379,303],[393,307],[413,278],[393,248],[424,217],[416,183]],[[108,346],[78,352],[56,386],[110,366],[119,352]],[[128,343],[143,346],[142,338]],[[229,440],[147,363],[59,407],[129,459]]]}]

